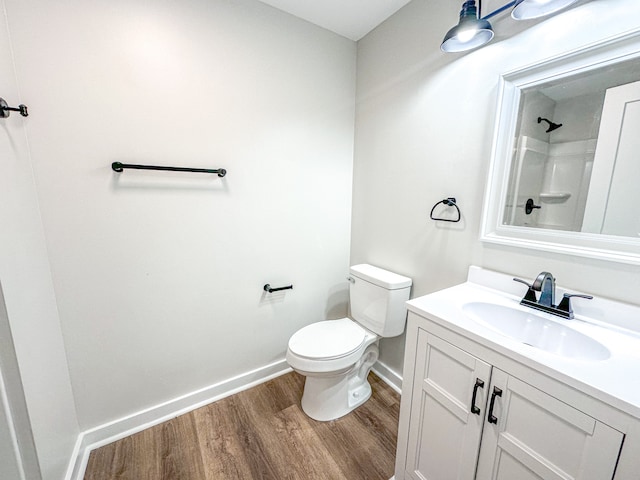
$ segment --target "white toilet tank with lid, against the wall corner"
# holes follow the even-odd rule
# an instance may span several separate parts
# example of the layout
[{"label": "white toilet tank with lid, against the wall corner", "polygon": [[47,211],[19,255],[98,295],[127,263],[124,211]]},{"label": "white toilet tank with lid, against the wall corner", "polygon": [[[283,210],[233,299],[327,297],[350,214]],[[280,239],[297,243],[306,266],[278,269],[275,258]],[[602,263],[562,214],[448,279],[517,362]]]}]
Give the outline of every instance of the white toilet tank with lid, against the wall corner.
[{"label": "white toilet tank with lid, against the wall corner", "polygon": [[351,317],[381,337],[395,337],[404,331],[411,279],[374,267],[350,268],[349,302]]}]

